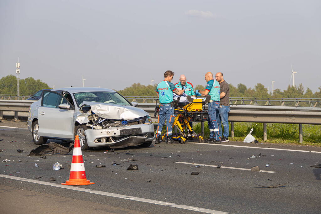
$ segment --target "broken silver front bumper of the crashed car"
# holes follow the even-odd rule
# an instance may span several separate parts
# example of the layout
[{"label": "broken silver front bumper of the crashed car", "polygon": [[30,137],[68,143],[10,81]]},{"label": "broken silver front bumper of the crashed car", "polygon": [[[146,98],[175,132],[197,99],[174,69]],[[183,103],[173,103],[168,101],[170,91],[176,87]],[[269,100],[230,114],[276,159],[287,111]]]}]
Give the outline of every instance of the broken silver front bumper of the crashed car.
[{"label": "broken silver front bumper of the crashed car", "polygon": [[[130,135],[124,134],[126,129],[134,128],[141,128],[141,132]],[[89,147],[109,146],[110,148],[137,146],[146,141],[152,141],[155,137],[153,124],[139,124],[108,129],[87,129],[85,130],[85,135]]]}]

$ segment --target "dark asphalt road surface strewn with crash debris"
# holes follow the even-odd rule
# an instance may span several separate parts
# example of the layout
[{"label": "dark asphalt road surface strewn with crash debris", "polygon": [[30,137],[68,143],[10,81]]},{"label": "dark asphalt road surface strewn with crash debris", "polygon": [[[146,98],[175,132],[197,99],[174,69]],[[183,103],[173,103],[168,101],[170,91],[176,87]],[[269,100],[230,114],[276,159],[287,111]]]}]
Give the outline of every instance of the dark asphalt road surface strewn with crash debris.
[{"label": "dark asphalt road surface strewn with crash debris", "polygon": [[[60,185],[69,179],[72,152],[28,156],[37,145],[25,122],[3,121],[0,134],[0,161],[10,160],[0,162],[1,213],[320,213],[321,168],[310,167],[321,163],[317,147],[190,142],[100,148],[82,152],[95,184],[74,188]],[[56,161],[64,169],[53,170]],[[107,167],[96,168],[101,164]],[[130,164],[139,170],[126,170]],[[261,170],[250,171],[253,166]],[[259,186],[274,184],[285,185]]]}]

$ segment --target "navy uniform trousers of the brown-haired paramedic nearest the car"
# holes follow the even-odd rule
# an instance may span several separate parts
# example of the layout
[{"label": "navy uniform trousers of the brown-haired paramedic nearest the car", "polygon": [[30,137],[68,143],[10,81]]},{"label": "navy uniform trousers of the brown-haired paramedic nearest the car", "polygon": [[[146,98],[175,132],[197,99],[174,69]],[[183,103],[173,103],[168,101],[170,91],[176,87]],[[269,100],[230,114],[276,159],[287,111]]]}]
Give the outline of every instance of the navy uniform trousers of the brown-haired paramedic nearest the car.
[{"label": "navy uniform trousers of the brown-haired paramedic nearest the car", "polygon": [[156,137],[161,135],[164,123],[166,122],[166,134],[167,136],[172,135],[172,125],[175,120],[174,107],[170,104],[160,104],[160,113],[158,115],[158,126],[156,129]]}]

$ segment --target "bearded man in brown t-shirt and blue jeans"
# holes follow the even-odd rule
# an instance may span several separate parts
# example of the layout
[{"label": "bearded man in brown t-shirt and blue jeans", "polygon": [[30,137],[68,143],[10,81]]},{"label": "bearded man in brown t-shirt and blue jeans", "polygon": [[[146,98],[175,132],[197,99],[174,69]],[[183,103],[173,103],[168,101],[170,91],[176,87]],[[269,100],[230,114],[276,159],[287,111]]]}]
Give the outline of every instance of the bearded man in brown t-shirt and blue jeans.
[{"label": "bearded man in brown t-shirt and blue jeans", "polygon": [[[219,125],[220,130],[220,136],[221,136],[221,142],[228,142],[229,141],[229,112],[230,112],[230,86],[229,84],[224,80],[223,73],[218,72],[215,75],[216,81],[220,83],[221,87],[221,101],[220,101],[220,107],[219,107],[219,116],[217,116],[217,123]],[[224,127],[224,133],[222,136],[222,126]]]}]

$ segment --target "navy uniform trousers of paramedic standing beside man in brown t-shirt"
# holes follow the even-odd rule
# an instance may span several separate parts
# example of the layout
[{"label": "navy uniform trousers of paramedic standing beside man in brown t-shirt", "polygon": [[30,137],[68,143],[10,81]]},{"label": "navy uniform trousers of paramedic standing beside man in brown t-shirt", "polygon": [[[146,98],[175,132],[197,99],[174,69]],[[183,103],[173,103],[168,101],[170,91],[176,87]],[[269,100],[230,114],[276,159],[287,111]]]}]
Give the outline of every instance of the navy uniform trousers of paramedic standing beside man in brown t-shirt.
[{"label": "navy uniform trousers of paramedic standing beside man in brown t-shirt", "polygon": [[217,124],[217,117],[219,113],[220,102],[208,103],[208,119],[207,124],[210,128],[210,138],[220,140],[219,126]]}]

